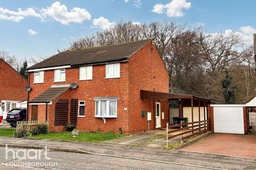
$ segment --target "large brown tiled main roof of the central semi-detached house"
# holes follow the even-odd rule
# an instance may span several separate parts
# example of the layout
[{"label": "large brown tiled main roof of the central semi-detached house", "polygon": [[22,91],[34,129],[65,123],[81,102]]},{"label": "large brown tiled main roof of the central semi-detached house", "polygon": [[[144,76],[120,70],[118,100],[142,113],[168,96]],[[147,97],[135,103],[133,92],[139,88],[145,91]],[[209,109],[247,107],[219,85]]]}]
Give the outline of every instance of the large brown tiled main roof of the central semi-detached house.
[{"label": "large brown tiled main roof of the central semi-detached house", "polygon": [[61,52],[29,67],[28,70],[125,60],[149,41],[151,39]]}]

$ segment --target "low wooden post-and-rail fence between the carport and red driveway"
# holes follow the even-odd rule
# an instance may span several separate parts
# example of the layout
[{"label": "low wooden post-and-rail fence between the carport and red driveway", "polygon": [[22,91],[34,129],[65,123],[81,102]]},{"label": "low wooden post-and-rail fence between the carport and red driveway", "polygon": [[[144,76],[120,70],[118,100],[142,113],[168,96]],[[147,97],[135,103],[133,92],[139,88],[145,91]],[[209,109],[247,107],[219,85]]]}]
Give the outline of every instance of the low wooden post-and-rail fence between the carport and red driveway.
[{"label": "low wooden post-and-rail fence between the carport and red driveway", "polygon": [[[184,127],[186,126],[186,127]],[[179,129],[171,129],[171,128],[177,128]],[[180,124],[174,124],[174,125],[169,125],[169,123],[166,123],[166,147],[168,147],[168,140],[179,137],[180,136],[180,141],[183,142],[183,139],[193,137],[194,135],[198,133],[205,132],[209,130],[210,128],[210,121],[205,120],[205,121],[197,121],[197,122],[189,122],[189,123],[180,123]],[[175,133],[175,132],[180,132],[180,133]],[[183,137],[183,135],[191,133],[189,135],[186,135]]]}]

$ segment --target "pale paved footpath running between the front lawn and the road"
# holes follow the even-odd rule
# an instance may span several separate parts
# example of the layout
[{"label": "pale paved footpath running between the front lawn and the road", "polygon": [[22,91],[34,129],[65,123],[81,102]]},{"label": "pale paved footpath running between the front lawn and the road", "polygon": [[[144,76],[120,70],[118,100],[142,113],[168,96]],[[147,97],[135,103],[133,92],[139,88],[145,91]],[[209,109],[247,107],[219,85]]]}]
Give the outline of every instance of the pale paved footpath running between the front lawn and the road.
[{"label": "pale paved footpath running between the front lawn and the road", "polygon": [[[255,159],[231,158],[209,154],[197,154],[178,150],[164,150],[125,145],[110,145],[103,143],[77,143],[53,140],[14,139],[0,137],[0,143],[21,144],[27,147],[47,146],[52,148],[80,149],[91,155],[121,157],[125,159],[141,159],[149,162],[163,162],[166,164],[187,164],[191,167],[215,167],[222,169],[256,169]],[[62,154],[65,157],[66,154]],[[86,158],[85,158],[86,159]],[[119,162],[121,164],[121,162]],[[103,165],[102,165],[103,166]],[[175,168],[174,168],[175,169]]]}]

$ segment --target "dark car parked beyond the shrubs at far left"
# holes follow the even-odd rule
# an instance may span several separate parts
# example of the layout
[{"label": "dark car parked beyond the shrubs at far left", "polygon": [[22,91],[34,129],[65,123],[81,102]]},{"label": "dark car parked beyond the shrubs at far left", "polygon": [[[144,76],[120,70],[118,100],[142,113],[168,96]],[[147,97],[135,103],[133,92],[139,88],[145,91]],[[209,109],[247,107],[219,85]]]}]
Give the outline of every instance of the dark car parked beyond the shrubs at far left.
[{"label": "dark car parked beyond the shrubs at far left", "polygon": [[25,121],[27,114],[27,108],[14,108],[7,113],[6,121],[15,128],[18,121]]}]

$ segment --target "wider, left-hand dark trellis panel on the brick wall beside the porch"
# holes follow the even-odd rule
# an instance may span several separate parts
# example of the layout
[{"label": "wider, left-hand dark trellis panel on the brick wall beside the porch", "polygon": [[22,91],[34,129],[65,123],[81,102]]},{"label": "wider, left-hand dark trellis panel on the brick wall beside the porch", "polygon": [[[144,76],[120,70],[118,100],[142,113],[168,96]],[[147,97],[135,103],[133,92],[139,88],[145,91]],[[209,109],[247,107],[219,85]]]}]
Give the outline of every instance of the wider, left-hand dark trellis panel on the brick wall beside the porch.
[{"label": "wider, left-hand dark trellis panel on the brick wall beside the porch", "polygon": [[68,124],[68,99],[57,99],[55,106],[55,126]]}]

